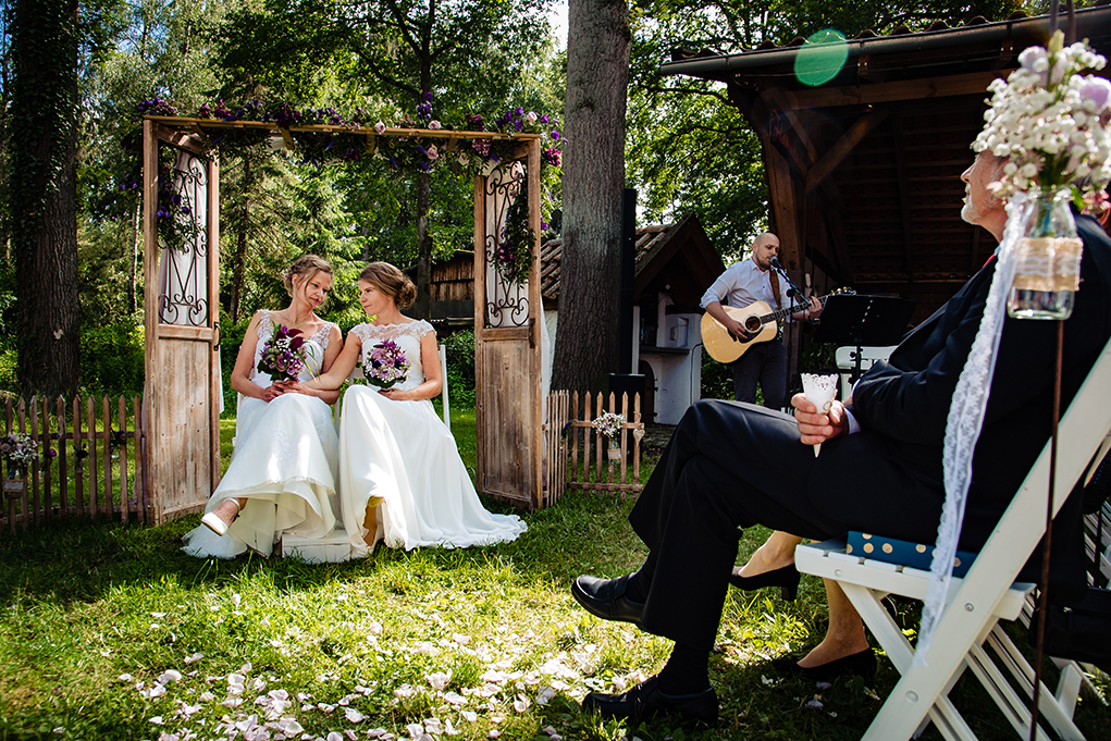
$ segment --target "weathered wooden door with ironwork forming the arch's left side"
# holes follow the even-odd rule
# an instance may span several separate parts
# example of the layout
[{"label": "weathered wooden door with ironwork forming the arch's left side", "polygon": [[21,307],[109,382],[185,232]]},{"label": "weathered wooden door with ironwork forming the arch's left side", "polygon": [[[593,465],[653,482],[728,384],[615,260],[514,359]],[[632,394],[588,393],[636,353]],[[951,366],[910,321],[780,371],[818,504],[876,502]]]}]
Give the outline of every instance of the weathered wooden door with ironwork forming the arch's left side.
[{"label": "weathered wooden door with ironwork forming the arch's left side", "polygon": [[[143,121],[143,407],[156,524],[202,509],[220,481],[219,169],[193,142]],[[160,219],[172,221],[168,239]]]}]

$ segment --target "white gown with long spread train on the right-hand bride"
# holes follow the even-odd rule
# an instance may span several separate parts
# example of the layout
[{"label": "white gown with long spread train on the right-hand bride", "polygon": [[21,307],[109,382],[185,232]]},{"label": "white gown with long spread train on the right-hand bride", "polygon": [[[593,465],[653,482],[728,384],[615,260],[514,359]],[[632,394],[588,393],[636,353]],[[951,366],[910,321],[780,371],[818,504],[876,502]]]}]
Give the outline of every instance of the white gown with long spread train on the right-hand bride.
[{"label": "white gown with long spread train on the right-hand bride", "polygon": [[[397,388],[412,389],[424,382],[420,341],[431,331],[428,322],[413,321],[359,324],[351,334],[362,342],[364,364],[376,344],[396,342],[410,362],[409,375]],[[390,548],[487,545],[528,529],[517,515],[482,507],[456,439],[427,399],[391,401],[377,387],[349,387],[340,413],[340,460],[343,527],[357,555],[369,550],[363,523],[371,501],[381,504],[378,535]]]}]

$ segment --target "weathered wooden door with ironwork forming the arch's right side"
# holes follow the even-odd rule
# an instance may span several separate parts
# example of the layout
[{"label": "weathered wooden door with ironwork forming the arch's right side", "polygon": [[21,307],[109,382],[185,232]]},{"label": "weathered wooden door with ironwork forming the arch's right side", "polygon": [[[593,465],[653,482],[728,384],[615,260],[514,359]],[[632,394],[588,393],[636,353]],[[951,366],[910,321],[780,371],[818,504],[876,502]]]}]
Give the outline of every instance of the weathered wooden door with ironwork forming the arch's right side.
[{"label": "weathered wooden door with ironwork forming the arch's right side", "polygon": [[[522,146],[523,148],[523,146]],[[543,501],[540,299],[540,142],[474,184],[474,375],[478,489],[528,509]],[[494,268],[510,203],[529,199],[537,234],[523,283]]]}]

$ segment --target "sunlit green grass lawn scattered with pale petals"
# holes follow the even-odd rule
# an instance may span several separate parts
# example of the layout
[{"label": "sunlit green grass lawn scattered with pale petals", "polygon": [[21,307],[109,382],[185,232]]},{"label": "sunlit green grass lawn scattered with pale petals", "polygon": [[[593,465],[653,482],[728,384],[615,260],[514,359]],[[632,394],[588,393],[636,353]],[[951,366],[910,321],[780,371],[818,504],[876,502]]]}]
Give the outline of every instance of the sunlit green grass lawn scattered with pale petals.
[{"label": "sunlit green grass lawn scattered with pale petals", "polygon": [[[473,411],[452,417],[473,467]],[[222,421],[226,444],[232,430]],[[568,591],[580,573],[643,560],[632,504],[570,493],[527,514],[513,543],[321,565],[188,557],[178,547],[197,517],[4,533],[0,740],[859,738],[898,679],[885,659],[874,687],[781,681],[765,664],[820,639],[824,593],[811,578],[793,603],[731,590],[711,658],[718,729],[629,728],[579,710],[585,692],[631,685],[670,650],[593,618]],[[745,533],[739,562],[765,534]],[[974,682],[954,698],[981,739],[1017,738]],[[1107,738],[1098,700],[1077,718],[1089,739]]]}]

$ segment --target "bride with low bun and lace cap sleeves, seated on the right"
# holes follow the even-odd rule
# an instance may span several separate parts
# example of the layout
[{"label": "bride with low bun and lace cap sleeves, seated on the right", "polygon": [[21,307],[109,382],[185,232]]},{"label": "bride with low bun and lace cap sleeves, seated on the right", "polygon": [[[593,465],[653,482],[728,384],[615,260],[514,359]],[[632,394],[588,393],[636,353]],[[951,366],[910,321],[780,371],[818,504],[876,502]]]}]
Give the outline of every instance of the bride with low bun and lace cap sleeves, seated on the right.
[{"label": "bride with low bun and lace cap sleeves, seated on the right", "polygon": [[[299,388],[338,388],[369,353],[392,341],[410,363],[390,389],[352,383],[340,413],[340,498],[352,551],[364,555],[380,538],[390,548],[467,548],[516,539],[517,515],[492,514],[479,501],[456,439],[429,401],[440,393],[436,331],[399,309],[417,298],[396,267],[372,262],[359,276],[359,302],[370,318],[353,328],[331,371]],[[360,371],[356,371],[361,375]]]}]

